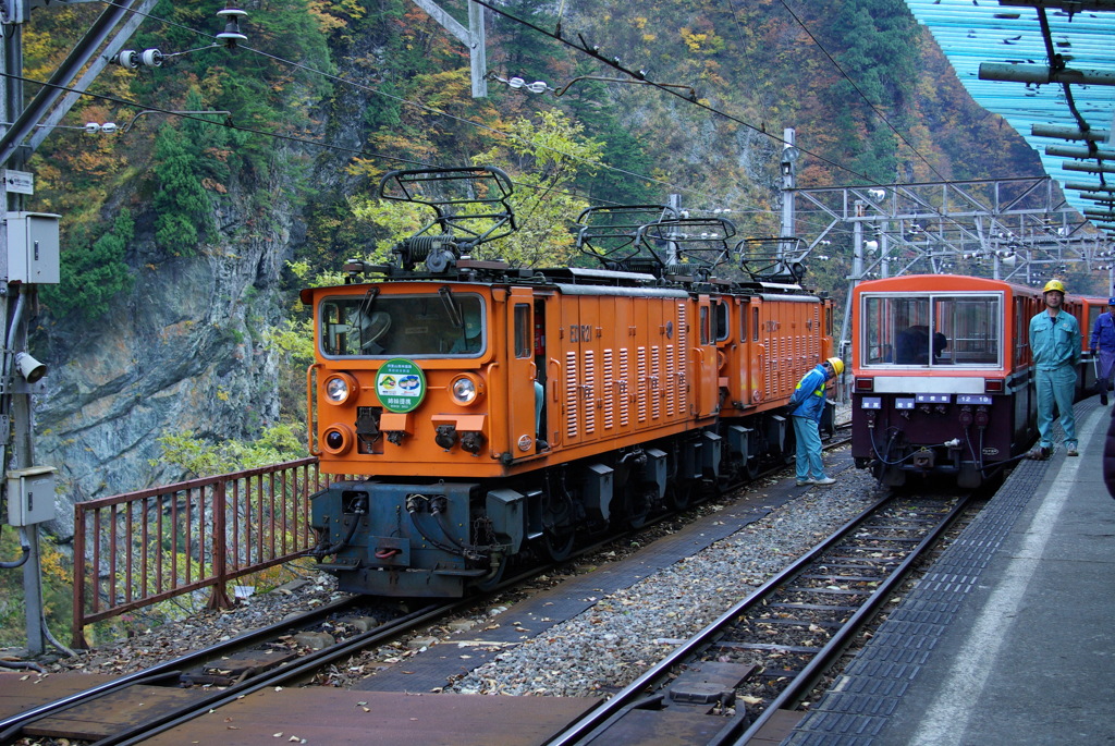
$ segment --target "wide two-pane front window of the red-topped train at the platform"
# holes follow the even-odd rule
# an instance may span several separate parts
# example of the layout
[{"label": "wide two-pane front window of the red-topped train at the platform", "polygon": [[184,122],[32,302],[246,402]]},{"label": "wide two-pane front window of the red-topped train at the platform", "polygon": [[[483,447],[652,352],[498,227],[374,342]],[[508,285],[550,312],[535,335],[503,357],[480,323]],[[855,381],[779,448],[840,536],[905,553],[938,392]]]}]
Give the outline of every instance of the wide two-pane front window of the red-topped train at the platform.
[{"label": "wide two-pane front window of the red-topped train at the platform", "polygon": [[864,296],[869,366],[1002,365],[1000,294]]}]

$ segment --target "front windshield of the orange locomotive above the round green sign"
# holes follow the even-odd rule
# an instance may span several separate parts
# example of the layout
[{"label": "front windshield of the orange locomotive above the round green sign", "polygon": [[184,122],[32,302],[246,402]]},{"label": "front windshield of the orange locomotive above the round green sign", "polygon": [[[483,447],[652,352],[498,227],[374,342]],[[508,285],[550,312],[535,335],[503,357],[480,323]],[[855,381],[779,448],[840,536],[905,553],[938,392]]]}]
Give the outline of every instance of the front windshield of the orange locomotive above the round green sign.
[{"label": "front windshield of the orange locomotive above the round green sign", "polygon": [[484,351],[484,302],[450,293],[327,298],[318,313],[327,357],[475,357]]}]

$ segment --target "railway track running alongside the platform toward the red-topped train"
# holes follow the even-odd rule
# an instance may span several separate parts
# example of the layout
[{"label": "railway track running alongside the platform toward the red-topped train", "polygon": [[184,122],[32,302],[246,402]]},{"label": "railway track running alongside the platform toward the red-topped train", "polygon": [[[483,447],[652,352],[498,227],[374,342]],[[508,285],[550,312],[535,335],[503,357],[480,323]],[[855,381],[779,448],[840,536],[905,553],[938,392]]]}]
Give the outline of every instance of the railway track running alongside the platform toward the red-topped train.
[{"label": "railway track running alongside the platform toward the red-topped train", "polygon": [[547,743],[637,744],[668,733],[678,743],[746,744],[805,699],[967,503],[880,500]]}]

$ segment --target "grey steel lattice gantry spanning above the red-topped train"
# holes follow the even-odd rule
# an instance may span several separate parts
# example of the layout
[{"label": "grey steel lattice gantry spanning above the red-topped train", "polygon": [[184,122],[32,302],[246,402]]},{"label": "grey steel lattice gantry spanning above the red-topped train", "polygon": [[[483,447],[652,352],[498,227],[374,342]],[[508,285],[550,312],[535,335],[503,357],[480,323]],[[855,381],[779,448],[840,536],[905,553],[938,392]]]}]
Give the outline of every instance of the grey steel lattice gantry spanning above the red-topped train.
[{"label": "grey steel lattice gantry spanning above the red-topped train", "polygon": [[[912,272],[1041,282],[1075,265],[1105,269],[1115,282],[1109,236],[1082,219],[1048,176],[924,182],[883,186],[791,188],[799,246],[793,261],[816,258],[851,232],[852,288],[861,280]],[[812,226],[805,231],[803,226]],[[787,245],[789,242],[787,242]],[[847,340],[845,307],[841,345]]]}]

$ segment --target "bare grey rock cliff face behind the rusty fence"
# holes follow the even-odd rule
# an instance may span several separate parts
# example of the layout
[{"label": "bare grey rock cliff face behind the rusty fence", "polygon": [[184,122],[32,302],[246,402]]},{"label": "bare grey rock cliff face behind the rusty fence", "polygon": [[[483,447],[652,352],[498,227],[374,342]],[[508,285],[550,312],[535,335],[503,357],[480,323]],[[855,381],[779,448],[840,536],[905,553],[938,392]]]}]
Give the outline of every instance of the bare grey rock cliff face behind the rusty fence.
[{"label": "bare grey rock cliff face behind the rusty fence", "polygon": [[227,236],[244,222],[233,206],[222,242],[192,258],[156,259],[140,235],[129,256],[135,288],[95,329],[32,320],[46,324],[32,326],[31,351],[49,370],[48,394],[33,403],[36,462],[59,468],[71,501],[183,478],[158,461],[164,433],[220,442],[278,420],[277,357],[264,333],[292,301],[279,279],[295,217],[274,207],[270,227],[233,244]]}]

